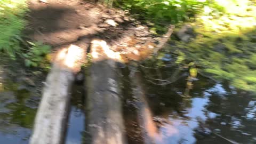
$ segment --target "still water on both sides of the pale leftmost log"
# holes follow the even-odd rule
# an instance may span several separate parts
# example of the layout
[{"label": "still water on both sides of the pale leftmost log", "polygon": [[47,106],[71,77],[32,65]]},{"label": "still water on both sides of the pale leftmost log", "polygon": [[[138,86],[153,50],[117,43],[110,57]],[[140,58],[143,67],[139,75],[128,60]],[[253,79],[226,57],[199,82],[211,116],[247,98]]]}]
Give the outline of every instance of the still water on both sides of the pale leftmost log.
[{"label": "still water on both sides of the pale leftmost log", "polygon": [[[41,95],[20,89],[22,86],[11,82],[4,86],[5,90],[0,91],[0,143],[27,144]],[[81,91],[81,86],[75,86],[71,99],[67,144],[82,143],[85,115]]]}]

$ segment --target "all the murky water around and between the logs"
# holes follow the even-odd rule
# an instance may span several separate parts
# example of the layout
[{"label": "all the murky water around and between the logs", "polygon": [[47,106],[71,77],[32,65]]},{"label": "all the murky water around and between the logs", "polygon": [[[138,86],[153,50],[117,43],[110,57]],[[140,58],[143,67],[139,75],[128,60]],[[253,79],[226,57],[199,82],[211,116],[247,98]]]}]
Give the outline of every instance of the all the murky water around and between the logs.
[{"label": "all the murky water around and between the logs", "polygon": [[[168,70],[163,73],[169,75]],[[154,119],[159,119],[155,137],[158,143],[256,143],[256,95],[201,76],[197,78],[189,91],[190,97],[182,97],[186,77],[166,86],[145,81],[149,106]],[[134,123],[129,77],[123,80],[126,126],[133,125],[129,129],[139,131]],[[0,143],[28,143],[40,96],[18,85],[11,87],[15,89],[0,92]],[[81,87],[73,92],[67,144],[83,143],[85,114],[81,92]],[[140,143],[139,134],[127,134],[129,142]]]}]

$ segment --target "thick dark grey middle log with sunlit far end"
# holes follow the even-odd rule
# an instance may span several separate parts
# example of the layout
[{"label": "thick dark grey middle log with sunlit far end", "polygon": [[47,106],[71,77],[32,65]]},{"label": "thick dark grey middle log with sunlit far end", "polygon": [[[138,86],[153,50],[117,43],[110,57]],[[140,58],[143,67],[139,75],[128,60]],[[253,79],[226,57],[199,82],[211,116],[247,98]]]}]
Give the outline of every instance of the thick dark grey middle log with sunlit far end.
[{"label": "thick dark grey middle log with sunlit far end", "polygon": [[123,144],[122,100],[115,58],[104,41],[91,44],[92,64],[86,74],[87,129],[92,144]]}]

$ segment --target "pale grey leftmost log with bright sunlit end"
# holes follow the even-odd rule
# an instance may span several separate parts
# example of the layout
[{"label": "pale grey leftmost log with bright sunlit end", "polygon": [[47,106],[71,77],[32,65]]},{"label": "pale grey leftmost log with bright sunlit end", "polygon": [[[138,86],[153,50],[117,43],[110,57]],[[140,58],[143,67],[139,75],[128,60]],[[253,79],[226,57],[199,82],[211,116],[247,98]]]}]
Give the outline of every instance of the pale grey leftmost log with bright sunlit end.
[{"label": "pale grey leftmost log with bright sunlit end", "polygon": [[85,51],[71,45],[57,54],[47,76],[30,144],[63,143],[68,119],[70,87],[82,65]]}]

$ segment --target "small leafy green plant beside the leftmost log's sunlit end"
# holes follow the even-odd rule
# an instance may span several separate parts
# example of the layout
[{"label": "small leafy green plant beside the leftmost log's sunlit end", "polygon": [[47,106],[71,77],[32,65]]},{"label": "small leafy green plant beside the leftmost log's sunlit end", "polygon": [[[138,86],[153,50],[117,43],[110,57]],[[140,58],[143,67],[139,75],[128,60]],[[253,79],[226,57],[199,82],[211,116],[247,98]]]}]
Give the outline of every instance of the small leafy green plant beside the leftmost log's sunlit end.
[{"label": "small leafy green plant beside the leftmost log's sunlit end", "polygon": [[45,55],[50,52],[51,47],[40,42],[28,43],[30,44],[28,52],[22,53],[22,56],[25,58],[25,66],[38,67],[45,59]]}]

